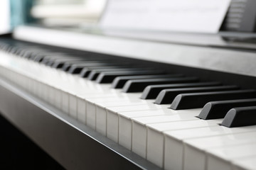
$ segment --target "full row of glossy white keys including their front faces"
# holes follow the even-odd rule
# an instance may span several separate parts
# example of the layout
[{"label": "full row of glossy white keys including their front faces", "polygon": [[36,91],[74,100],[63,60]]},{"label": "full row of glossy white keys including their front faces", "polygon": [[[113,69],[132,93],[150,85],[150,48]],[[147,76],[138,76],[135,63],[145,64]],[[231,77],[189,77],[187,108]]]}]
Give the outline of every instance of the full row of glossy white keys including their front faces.
[{"label": "full row of glossy white keys including their front faces", "polygon": [[[29,83],[20,82],[25,88],[29,85],[28,90],[33,94],[68,111],[73,118],[164,169],[210,169],[206,159],[209,159],[207,162],[214,162],[211,160],[215,156],[211,155],[215,152],[203,148],[203,159],[195,157],[194,150],[200,147],[193,147],[189,142],[256,131],[255,127],[230,129],[218,126],[221,120],[198,120],[195,116],[200,109],[173,111],[167,106],[138,99],[140,94],[122,94],[110,89],[110,85],[95,84],[30,61],[24,61],[23,66],[18,68],[19,63],[16,63],[16,68],[8,64],[4,66],[26,75]],[[30,73],[24,73],[23,69]],[[253,141],[253,137],[248,140]],[[238,142],[240,146],[240,140],[232,142]],[[222,150],[223,146],[225,143],[216,148]],[[231,159],[227,160],[231,169],[235,167]]]}]

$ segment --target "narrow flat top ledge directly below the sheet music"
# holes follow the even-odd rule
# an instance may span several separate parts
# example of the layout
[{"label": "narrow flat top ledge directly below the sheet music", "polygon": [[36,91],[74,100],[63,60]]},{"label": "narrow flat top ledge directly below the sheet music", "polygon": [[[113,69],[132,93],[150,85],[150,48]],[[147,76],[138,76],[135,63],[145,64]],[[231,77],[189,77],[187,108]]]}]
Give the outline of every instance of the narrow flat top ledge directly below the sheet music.
[{"label": "narrow flat top ledge directly below the sheet music", "polygon": [[58,27],[28,25],[38,28],[65,30],[73,33],[100,35],[114,38],[128,38],[146,40],[151,42],[164,42],[180,45],[193,45],[203,47],[224,47],[233,50],[256,50],[256,34],[245,32],[220,31],[219,33],[183,33],[174,31],[132,30],[119,28],[103,28],[88,25],[81,27]]}]

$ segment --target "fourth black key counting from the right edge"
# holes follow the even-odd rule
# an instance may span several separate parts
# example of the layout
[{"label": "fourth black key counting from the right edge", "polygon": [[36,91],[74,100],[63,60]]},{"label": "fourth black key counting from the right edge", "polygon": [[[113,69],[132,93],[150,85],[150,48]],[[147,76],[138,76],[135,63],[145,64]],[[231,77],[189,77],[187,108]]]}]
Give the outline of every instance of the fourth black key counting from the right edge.
[{"label": "fourth black key counting from the right edge", "polygon": [[180,88],[180,89],[164,89],[156,97],[156,104],[169,104],[174,101],[174,98],[178,94],[189,94],[207,91],[231,91],[239,89],[238,86],[208,86],[208,87],[191,87],[191,88]]}]

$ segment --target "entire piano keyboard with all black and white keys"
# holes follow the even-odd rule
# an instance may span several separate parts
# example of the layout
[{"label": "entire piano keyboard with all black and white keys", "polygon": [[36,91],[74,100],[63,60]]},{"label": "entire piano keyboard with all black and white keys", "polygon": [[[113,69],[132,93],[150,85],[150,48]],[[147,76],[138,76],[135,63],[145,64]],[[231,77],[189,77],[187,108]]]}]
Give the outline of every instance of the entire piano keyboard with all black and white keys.
[{"label": "entire piano keyboard with all black and white keys", "polygon": [[163,169],[255,169],[255,89],[1,40],[1,77]]}]

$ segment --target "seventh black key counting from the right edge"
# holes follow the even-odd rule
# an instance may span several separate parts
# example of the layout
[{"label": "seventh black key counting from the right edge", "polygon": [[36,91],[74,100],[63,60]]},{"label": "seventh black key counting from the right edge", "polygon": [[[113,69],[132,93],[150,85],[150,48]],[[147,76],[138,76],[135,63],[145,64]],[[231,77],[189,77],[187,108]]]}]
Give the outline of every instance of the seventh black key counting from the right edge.
[{"label": "seventh black key counting from the right edge", "polygon": [[112,89],[121,89],[128,80],[132,79],[157,79],[157,78],[168,78],[170,74],[151,74],[142,76],[125,76],[116,77],[112,82]]}]

